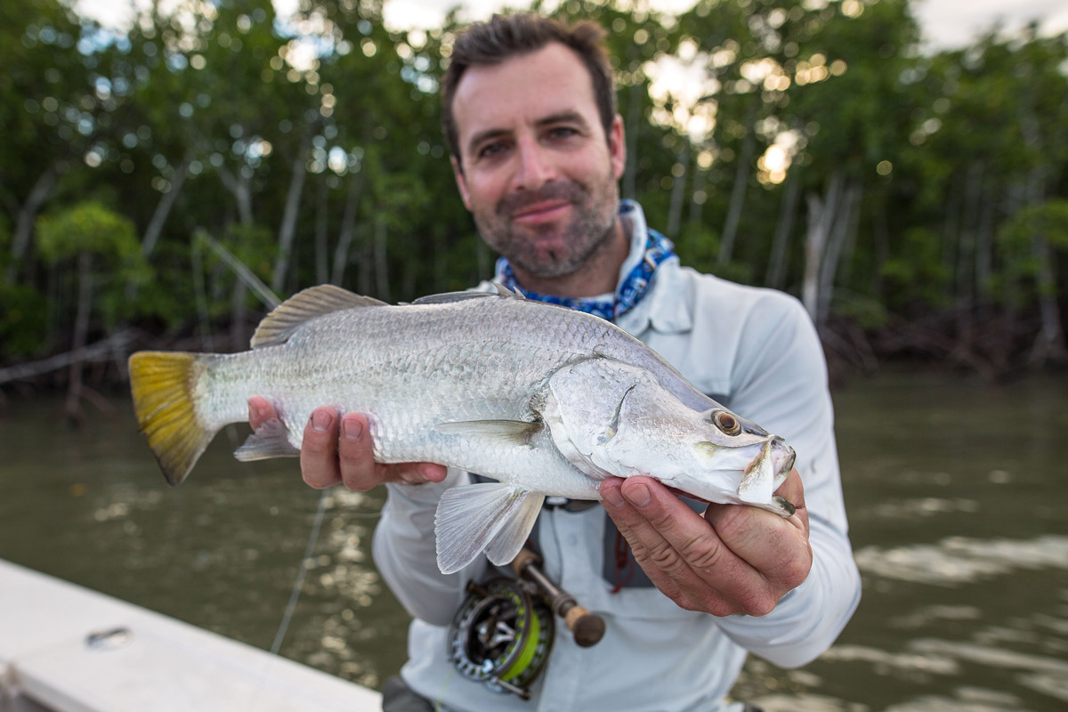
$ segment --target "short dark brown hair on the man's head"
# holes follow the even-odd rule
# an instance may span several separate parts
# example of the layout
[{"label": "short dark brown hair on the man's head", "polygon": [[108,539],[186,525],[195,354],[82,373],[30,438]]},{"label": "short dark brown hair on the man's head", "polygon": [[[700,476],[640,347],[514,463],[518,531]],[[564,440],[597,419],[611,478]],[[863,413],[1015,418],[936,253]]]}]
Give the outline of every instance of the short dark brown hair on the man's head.
[{"label": "short dark brown hair on the man's head", "polygon": [[517,54],[537,51],[552,42],[570,48],[590,72],[597,111],[607,138],[615,117],[615,90],[612,86],[612,66],[601,46],[603,37],[604,30],[590,20],[568,27],[533,13],[493,15],[486,22],[468,27],[453,43],[449,68],[441,83],[441,123],[456,160],[460,160],[460,147],[453,116],[453,98],[468,67],[500,64]]}]

